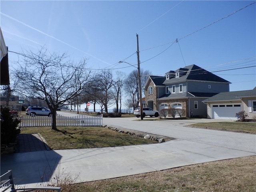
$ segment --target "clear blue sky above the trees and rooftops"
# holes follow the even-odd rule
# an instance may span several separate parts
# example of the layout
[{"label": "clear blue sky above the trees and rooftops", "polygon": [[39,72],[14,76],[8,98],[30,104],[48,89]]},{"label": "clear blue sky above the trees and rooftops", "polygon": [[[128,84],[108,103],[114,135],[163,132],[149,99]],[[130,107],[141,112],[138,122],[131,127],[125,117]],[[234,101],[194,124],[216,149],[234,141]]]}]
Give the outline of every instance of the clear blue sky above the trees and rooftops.
[{"label": "clear blue sky above the trees and rooftops", "polygon": [[[140,67],[153,75],[196,64],[232,82],[230,91],[250,90],[256,86],[254,2],[1,0],[0,22],[13,52],[46,46],[73,60],[88,58],[88,68],[128,75],[136,68],[118,61],[137,63],[138,34]],[[10,67],[16,60],[10,52]]]}]

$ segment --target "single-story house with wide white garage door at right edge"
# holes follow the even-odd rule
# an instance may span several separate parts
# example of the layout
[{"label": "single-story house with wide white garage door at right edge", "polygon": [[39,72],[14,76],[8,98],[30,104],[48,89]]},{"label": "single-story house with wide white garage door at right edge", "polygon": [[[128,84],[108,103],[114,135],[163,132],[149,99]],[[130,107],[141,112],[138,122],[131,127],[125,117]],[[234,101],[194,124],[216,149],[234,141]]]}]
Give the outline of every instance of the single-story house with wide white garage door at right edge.
[{"label": "single-story house with wide white garage door at right edge", "polygon": [[245,111],[247,119],[256,118],[256,87],[253,90],[222,92],[203,101],[207,118],[236,120],[236,113]]}]

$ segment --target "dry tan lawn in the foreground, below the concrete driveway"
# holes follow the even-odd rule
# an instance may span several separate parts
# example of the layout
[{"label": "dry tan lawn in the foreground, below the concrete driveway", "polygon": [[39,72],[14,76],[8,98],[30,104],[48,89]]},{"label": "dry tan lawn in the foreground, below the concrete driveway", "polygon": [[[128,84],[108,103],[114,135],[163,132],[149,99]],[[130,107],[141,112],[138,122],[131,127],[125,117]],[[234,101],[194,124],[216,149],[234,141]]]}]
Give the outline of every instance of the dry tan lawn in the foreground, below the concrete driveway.
[{"label": "dry tan lawn in the foreground, below the concrete driveway", "polygon": [[74,184],[77,192],[255,192],[256,156]]}]

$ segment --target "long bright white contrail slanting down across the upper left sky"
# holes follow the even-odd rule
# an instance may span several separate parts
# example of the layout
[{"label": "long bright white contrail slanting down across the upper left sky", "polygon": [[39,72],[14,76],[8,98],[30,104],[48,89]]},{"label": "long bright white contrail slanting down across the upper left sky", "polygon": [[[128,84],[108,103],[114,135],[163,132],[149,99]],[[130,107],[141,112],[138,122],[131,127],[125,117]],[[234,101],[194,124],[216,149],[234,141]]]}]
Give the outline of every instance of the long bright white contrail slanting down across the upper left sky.
[{"label": "long bright white contrail slanting down across the upper left sky", "polygon": [[1,12],[1,15],[4,15],[4,16],[6,16],[6,17],[8,17],[8,18],[10,18],[10,19],[12,19],[12,20],[14,20],[14,21],[16,21],[16,22],[18,22],[18,23],[20,23],[20,24],[26,26],[26,27],[28,27],[28,28],[31,28],[31,29],[33,29],[33,30],[35,30],[35,31],[37,31],[37,32],[39,32],[39,33],[42,33],[42,34],[44,34],[44,35],[46,35],[46,36],[48,36],[48,37],[50,37],[50,38],[53,38],[53,39],[55,39],[55,40],[57,40],[57,41],[59,41],[59,42],[65,44],[65,45],[67,45],[67,46],[70,46],[70,47],[72,47],[72,48],[74,48],[74,49],[76,49],[76,50],[78,50],[78,51],[80,51],[80,52],[83,52],[83,53],[85,53],[85,54],[87,54],[87,55],[89,55],[89,56],[91,56],[91,57],[93,57],[93,58],[95,58],[95,59],[97,59],[97,60],[103,62],[103,63],[106,63],[106,64],[110,65],[108,62],[105,62],[105,61],[103,61],[103,60],[101,60],[101,59],[99,59],[99,58],[97,58],[97,57],[95,57],[95,56],[93,56],[93,55],[91,55],[91,54],[89,54],[89,53],[84,52],[83,50],[80,50],[80,49],[78,49],[78,48],[76,48],[76,47],[74,47],[74,46],[72,46],[72,45],[70,45],[70,44],[68,44],[68,43],[66,43],[66,42],[64,42],[64,41],[62,41],[62,40],[59,40],[58,38],[55,38],[54,36],[51,36],[51,35],[49,35],[49,34],[46,34],[46,33],[42,32],[42,31],[40,31],[40,30],[38,30],[38,29],[32,27],[32,26],[29,26],[28,24],[26,24],[26,23],[24,23],[24,22],[22,22],[22,21],[20,21],[20,20],[17,20],[17,19],[15,19],[15,18],[13,18],[13,17],[11,17],[11,16],[9,16],[9,15],[7,15],[7,14],[4,14],[4,13]]}]

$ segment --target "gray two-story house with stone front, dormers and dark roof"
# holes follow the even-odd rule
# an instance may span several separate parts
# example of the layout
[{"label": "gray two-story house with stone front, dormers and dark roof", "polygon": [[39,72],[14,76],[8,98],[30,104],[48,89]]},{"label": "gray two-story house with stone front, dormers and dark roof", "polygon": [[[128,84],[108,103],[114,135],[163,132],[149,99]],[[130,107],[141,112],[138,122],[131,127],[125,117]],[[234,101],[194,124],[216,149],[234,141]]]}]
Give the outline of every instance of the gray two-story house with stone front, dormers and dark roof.
[{"label": "gray two-story house with stone front, dormers and dark roof", "polygon": [[146,106],[154,110],[182,108],[187,117],[207,117],[202,101],[220,92],[228,92],[227,80],[196,65],[169,71],[165,76],[148,76]]}]

